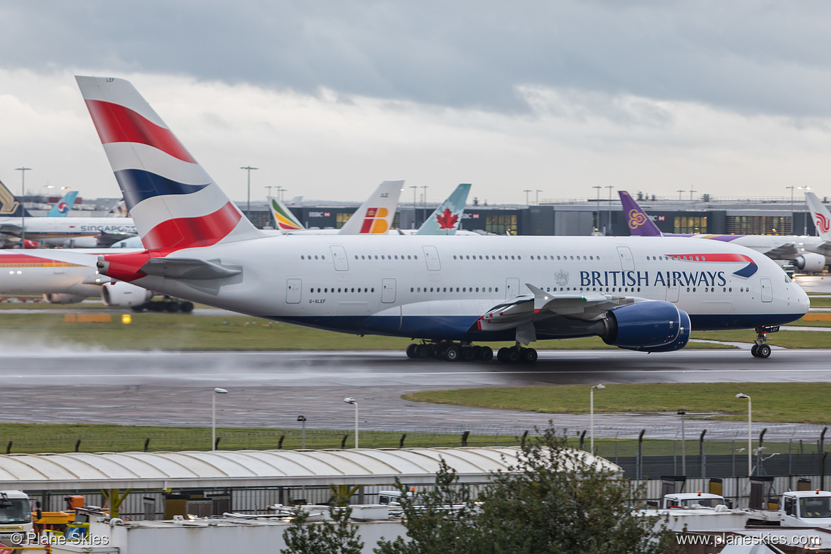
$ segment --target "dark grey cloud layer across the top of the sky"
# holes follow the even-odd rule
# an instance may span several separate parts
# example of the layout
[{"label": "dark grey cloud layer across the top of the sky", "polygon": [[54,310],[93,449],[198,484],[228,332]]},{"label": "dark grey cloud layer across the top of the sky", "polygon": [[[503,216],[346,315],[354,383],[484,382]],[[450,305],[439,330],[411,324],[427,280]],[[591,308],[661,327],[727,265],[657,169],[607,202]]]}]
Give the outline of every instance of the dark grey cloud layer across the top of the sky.
[{"label": "dark grey cloud layer across the top of the sky", "polygon": [[519,86],[831,115],[828,2],[0,2],[2,64],[527,110]]}]

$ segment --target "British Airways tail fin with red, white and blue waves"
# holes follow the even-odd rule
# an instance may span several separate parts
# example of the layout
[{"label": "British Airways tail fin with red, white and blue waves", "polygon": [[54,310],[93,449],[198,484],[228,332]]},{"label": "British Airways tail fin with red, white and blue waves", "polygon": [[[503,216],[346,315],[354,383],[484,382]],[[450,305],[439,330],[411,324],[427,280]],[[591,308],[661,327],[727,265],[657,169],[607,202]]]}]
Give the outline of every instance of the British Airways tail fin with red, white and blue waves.
[{"label": "British Airways tail fin with red, white and blue waves", "polygon": [[76,76],[145,248],[263,236],[124,79]]}]

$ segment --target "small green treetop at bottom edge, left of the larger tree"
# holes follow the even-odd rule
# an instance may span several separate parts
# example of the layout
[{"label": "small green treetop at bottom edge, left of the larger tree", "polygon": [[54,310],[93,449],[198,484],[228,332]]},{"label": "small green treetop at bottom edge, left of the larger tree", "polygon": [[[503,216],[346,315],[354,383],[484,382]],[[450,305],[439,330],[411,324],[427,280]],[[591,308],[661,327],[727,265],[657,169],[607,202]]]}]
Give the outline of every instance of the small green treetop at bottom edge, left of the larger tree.
[{"label": "small green treetop at bottom edge, left of the larger tree", "polygon": [[358,527],[349,522],[350,507],[329,506],[331,522],[309,522],[301,506],[292,512],[292,525],[283,532],[286,548],[281,554],[360,554],[364,543]]}]

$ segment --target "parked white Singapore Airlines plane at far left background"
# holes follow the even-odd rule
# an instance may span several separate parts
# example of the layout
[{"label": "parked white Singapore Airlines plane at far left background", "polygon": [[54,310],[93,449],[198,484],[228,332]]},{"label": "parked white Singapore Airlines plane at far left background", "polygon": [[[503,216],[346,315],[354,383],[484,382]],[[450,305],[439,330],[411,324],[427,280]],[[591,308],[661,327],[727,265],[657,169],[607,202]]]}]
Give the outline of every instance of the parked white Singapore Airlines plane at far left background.
[{"label": "parked white Singapore Airlines plane at far left background", "polygon": [[[0,183],[0,241],[15,243],[25,225],[27,240],[61,245],[66,238],[111,238],[137,234],[130,218],[38,218],[32,217],[14,194]],[[91,240],[87,239],[91,244]],[[92,245],[92,244],[91,244]]]}]

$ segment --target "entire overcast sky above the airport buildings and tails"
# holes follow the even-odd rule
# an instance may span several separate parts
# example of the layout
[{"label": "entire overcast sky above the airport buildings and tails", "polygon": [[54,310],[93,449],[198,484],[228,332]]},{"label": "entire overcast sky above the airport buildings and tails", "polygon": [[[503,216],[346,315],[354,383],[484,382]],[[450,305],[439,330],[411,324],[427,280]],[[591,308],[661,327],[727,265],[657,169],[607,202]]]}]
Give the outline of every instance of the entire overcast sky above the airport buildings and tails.
[{"label": "entire overcast sky above the airport buildings and tails", "polygon": [[82,74],[132,81],[237,200],[248,164],[253,199],[831,196],[831,2],[0,0],[0,21],[14,190],[27,166],[33,193],[119,195]]}]

